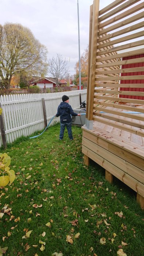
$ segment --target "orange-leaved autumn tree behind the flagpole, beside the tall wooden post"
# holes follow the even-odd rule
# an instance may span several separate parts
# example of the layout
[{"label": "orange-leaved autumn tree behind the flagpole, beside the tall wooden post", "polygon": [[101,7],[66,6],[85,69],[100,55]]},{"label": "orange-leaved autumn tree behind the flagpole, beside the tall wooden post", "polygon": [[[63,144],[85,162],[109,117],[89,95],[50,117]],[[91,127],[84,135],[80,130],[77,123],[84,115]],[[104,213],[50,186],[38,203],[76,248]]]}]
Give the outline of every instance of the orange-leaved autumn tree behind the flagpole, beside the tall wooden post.
[{"label": "orange-leaved autumn tree behind the flagpole, beside the tall wooden post", "polygon": [[[82,56],[80,57],[80,65],[81,65],[81,75],[86,77],[88,74],[88,46],[84,50]],[[79,61],[77,61],[75,65],[76,74],[79,74]]]}]

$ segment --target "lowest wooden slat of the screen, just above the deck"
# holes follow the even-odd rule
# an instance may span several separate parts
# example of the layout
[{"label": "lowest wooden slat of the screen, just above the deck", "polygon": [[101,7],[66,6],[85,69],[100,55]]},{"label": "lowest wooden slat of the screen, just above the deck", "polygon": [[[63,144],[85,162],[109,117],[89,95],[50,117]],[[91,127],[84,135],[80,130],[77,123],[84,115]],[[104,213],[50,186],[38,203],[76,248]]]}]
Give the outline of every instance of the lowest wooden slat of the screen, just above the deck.
[{"label": "lowest wooden slat of the screen, just above the deck", "polygon": [[136,130],[134,130],[132,128],[127,128],[124,125],[121,125],[121,124],[118,124],[118,123],[113,123],[112,121],[106,121],[106,120],[104,120],[101,117],[99,117],[99,118],[98,117],[94,117],[93,119],[95,121],[100,122],[100,123],[107,124],[107,125],[110,125],[110,126],[113,126],[113,127],[117,127],[117,128],[122,129],[124,131],[131,132],[131,133],[134,133],[134,134],[139,135],[141,137],[144,137],[144,132],[141,132],[141,131],[138,131],[138,130],[136,131]]}]

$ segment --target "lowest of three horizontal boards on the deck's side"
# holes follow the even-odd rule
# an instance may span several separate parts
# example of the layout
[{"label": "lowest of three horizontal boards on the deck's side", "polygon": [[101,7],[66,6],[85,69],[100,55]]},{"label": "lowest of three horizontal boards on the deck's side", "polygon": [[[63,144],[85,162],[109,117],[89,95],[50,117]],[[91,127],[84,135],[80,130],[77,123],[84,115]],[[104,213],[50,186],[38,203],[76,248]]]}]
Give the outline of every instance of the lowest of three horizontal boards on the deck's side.
[{"label": "lowest of three horizontal boards on the deck's side", "polygon": [[101,165],[104,169],[106,169],[108,172],[113,174],[115,177],[117,177],[119,180],[124,182],[126,185],[128,185],[130,188],[132,188],[134,191],[139,193],[139,195],[144,197],[144,184],[141,182],[135,180],[133,177],[131,177],[129,174],[125,173],[121,169],[119,169],[117,166],[113,165],[109,161],[107,161],[105,158],[99,156],[98,154],[91,151],[89,148],[82,146],[82,153],[86,154],[87,157],[91,158],[93,161]]}]

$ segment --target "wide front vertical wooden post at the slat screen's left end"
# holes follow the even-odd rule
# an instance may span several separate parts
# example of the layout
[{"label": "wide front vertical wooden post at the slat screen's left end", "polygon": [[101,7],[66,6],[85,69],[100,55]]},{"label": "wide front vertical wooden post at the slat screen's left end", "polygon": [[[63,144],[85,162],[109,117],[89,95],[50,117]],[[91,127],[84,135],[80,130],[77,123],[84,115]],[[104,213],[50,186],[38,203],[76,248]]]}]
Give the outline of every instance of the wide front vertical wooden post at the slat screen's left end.
[{"label": "wide front vertical wooden post at the slat screen's left end", "polygon": [[90,83],[88,101],[90,102],[88,108],[88,120],[93,120],[93,105],[94,105],[94,87],[95,87],[95,60],[97,52],[98,39],[98,14],[99,14],[99,0],[94,0],[92,10],[92,38],[91,38],[91,59],[90,59]]}]

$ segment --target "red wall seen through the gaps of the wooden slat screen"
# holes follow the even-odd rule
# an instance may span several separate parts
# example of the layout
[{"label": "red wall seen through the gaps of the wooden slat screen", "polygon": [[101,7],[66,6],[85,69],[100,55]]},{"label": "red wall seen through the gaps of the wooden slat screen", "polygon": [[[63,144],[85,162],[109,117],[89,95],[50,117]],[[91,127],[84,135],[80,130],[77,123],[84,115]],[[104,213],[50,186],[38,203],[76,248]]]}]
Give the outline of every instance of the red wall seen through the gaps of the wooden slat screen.
[{"label": "red wall seen through the gaps of the wooden slat screen", "polygon": [[[130,60],[130,59],[136,59],[144,57],[143,54],[137,54],[129,57],[123,57],[122,60]],[[136,67],[144,67],[143,63],[134,63],[134,64],[125,64],[122,65],[122,68],[136,68]],[[133,75],[144,75],[144,71],[140,72],[128,72],[128,73],[122,73],[121,76],[133,76]],[[144,80],[121,80],[122,83],[144,83]],[[121,88],[120,91],[144,91],[144,88]],[[144,99],[144,96],[134,96],[134,95],[119,95],[120,98],[129,98],[129,99]]]}]

